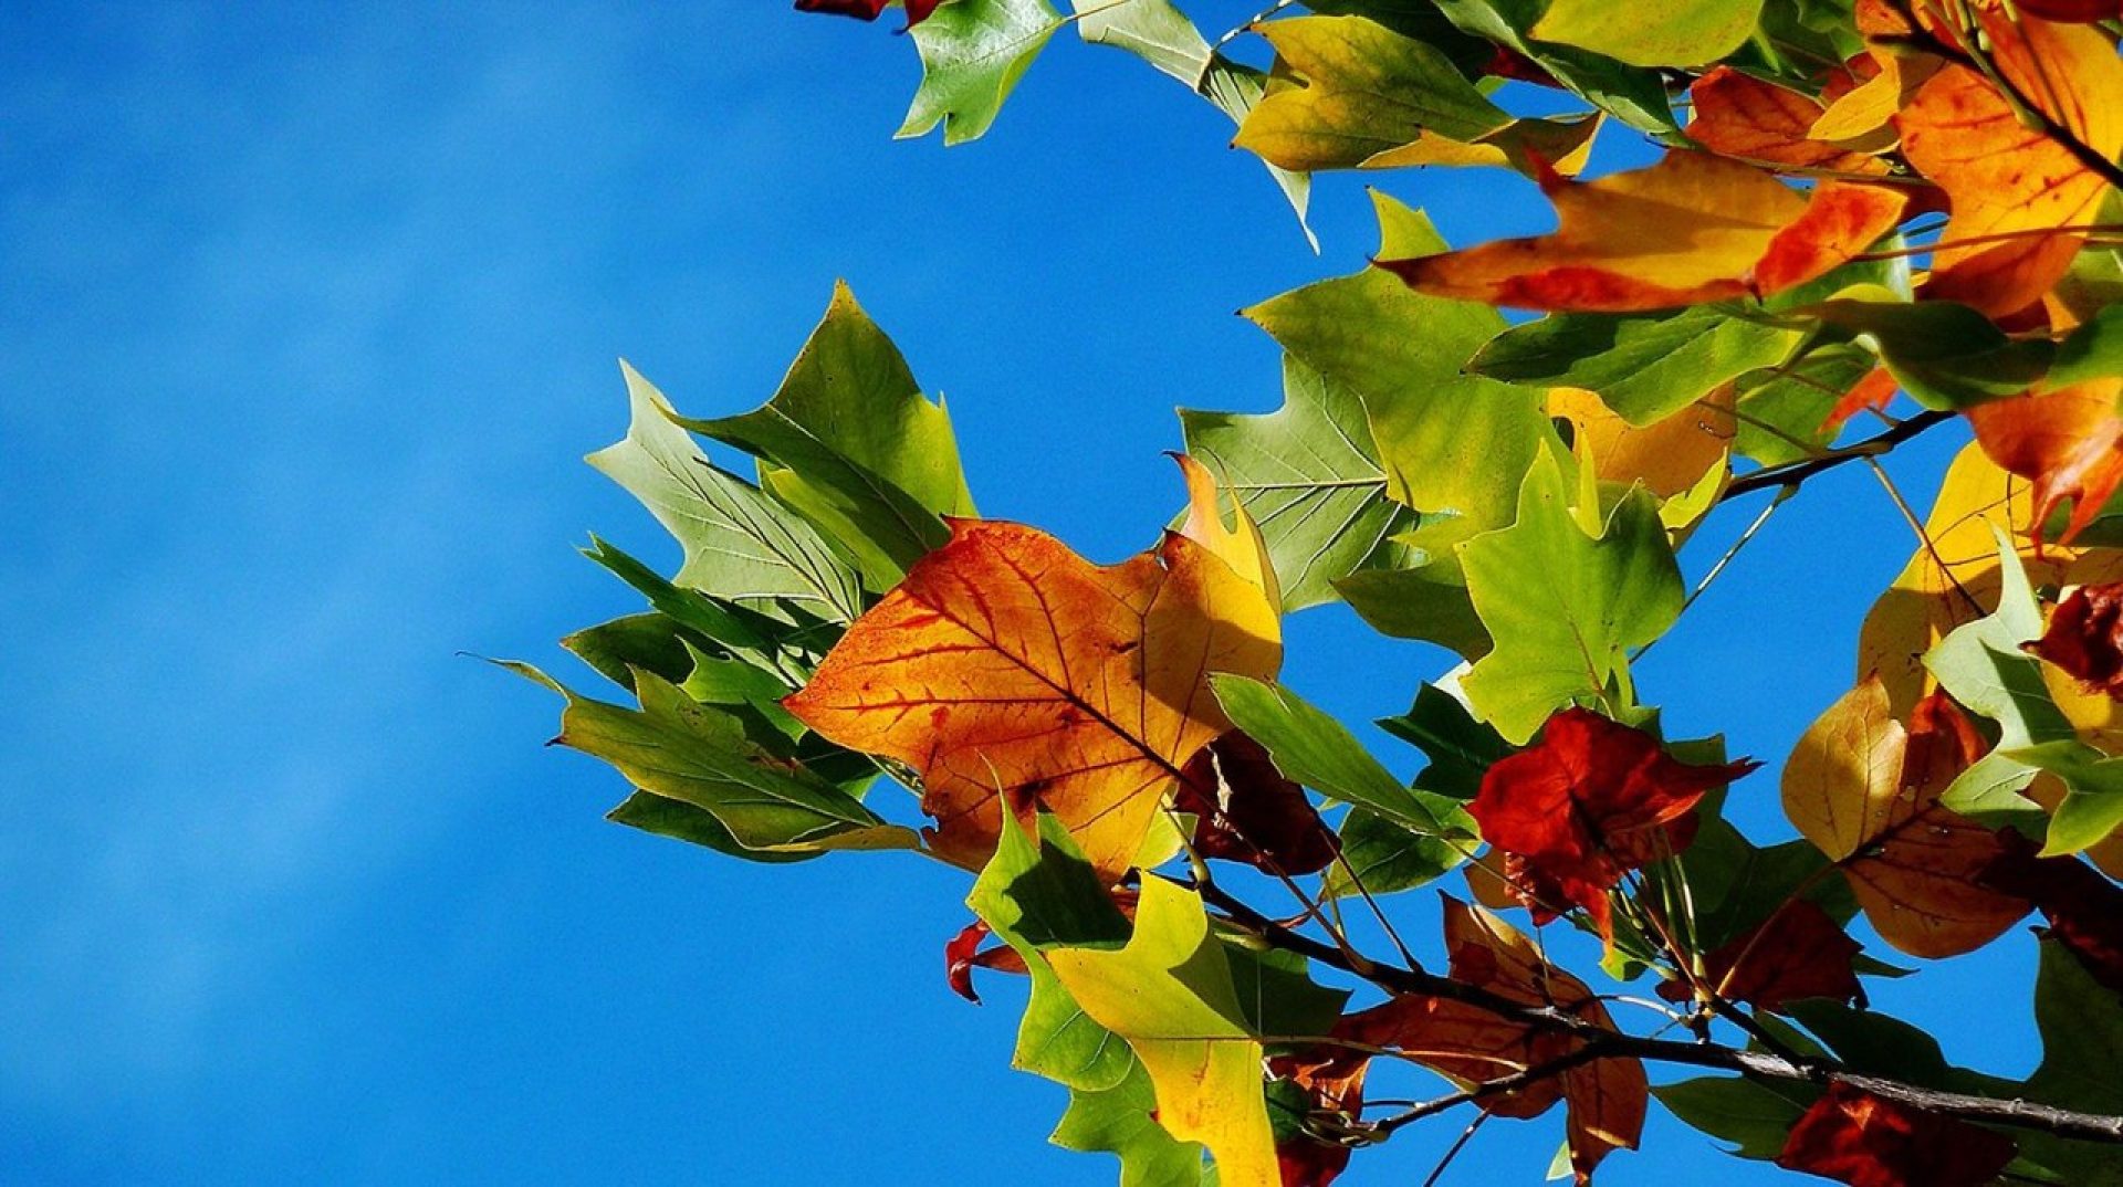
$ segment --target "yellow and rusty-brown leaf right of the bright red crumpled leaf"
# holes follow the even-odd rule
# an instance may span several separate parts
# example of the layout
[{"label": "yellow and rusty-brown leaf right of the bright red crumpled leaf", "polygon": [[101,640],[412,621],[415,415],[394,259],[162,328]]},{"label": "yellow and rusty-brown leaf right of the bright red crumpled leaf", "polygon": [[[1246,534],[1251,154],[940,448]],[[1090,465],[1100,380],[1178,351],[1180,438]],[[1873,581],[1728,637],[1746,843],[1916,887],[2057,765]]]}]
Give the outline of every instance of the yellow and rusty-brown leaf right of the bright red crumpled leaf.
[{"label": "yellow and rusty-brown leaf right of the bright red crumpled leaf", "polygon": [[1998,835],[1938,805],[1983,739],[1945,692],[1902,728],[1868,675],[1792,750],[1783,813],[1843,868],[1872,928],[1911,956],[1943,958],[1998,939],[2027,900],[1979,883],[2004,851]]}]

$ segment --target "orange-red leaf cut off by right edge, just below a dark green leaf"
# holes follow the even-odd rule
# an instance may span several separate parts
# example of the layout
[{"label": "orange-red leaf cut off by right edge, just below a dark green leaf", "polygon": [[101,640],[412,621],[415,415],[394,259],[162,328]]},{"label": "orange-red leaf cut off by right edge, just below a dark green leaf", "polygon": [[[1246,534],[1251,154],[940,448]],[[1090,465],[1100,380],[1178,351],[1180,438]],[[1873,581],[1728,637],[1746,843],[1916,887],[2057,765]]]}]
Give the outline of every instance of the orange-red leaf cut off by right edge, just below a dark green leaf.
[{"label": "orange-red leaf cut off by right edge, just below a dark green leaf", "polygon": [[1993,399],[1968,410],[1977,444],[2000,469],[2034,482],[2034,522],[2066,499],[2070,544],[2123,482],[2123,380],[2087,380],[2057,391]]}]

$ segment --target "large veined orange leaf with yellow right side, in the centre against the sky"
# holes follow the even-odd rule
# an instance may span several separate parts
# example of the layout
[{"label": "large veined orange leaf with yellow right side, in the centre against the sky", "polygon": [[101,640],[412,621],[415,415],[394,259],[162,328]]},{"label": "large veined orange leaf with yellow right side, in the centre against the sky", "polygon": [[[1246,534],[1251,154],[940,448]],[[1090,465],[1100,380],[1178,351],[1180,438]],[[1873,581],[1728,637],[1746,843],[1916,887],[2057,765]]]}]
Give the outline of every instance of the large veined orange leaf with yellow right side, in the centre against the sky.
[{"label": "large veined orange leaf with yellow right side, in the centre against the sky", "polygon": [[1187,760],[1229,728],[1206,677],[1265,679],[1282,658],[1261,573],[1219,556],[1244,563],[1259,537],[1240,516],[1214,544],[1166,533],[1098,567],[1023,524],[947,522],[949,544],[783,705],[839,745],[913,767],[940,858],[977,868],[1004,807],[1047,807],[1119,879]]}]

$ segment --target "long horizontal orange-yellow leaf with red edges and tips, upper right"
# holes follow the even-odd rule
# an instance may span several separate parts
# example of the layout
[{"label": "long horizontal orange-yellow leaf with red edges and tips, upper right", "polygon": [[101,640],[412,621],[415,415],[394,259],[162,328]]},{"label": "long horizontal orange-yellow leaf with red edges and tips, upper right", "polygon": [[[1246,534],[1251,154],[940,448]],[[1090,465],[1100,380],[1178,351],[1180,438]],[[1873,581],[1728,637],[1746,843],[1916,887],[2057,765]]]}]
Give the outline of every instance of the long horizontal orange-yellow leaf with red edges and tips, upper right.
[{"label": "long horizontal orange-yellow leaf with red edges and tips, upper right", "polygon": [[1741,161],[1669,153],[1573,183],[1541,178],[1556,231],[1386,259],[1420,293],[1567,312],[1639,312],[1771,295],[1849,261],[1894,229],[1904,197],[1824,180],[1800,193]]}]

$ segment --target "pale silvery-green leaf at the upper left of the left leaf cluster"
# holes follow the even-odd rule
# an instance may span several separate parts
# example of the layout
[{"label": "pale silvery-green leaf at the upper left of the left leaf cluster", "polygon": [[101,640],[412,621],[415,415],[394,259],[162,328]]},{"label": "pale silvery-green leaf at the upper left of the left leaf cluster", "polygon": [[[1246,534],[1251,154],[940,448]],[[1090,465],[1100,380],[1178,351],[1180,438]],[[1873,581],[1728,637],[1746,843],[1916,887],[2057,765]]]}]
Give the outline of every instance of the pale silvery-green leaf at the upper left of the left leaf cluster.
[{"label": "pale silvery-green leaf at the upper left of the left leaf cluster", "polygon": [[788,508],[707,461],[671,406],[631,365],[626,440],[588,457],[590,465],[641,499],[677,537],[686,563],[677,584],[715,597],[790,599],[819,616],[849,622],[862,614],[856,573]]}]

